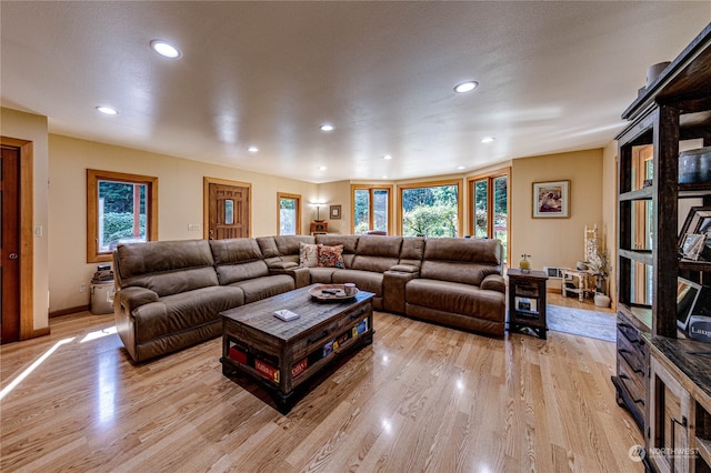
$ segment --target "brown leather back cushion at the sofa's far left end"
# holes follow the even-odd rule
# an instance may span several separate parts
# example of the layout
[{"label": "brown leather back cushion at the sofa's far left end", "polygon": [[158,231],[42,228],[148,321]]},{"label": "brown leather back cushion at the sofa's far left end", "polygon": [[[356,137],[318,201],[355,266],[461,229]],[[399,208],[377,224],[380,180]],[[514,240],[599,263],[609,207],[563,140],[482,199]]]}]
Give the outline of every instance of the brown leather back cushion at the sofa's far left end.
[{"label": "brown leather back cushion at the sofa's far left end", "polygon": [[113,262],[119,288],[146,288],[164,296],[218,285],[206,240],[119,244]]}]

